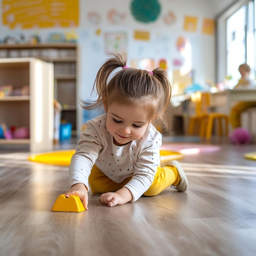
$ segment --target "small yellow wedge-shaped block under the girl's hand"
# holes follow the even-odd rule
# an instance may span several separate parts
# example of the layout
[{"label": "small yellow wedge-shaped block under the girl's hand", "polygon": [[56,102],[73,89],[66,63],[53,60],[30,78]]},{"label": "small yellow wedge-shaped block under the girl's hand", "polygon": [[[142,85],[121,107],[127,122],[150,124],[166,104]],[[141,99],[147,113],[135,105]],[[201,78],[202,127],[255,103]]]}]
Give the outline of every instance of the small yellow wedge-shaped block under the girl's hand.
[{"label": "small yellow wedge-shaped block under the girl's hand", "polygon": [[85,211],[80,198],[76,195],[70,195],[68,198],[64,194],[56,199],[52,211],[81,212]]}]

